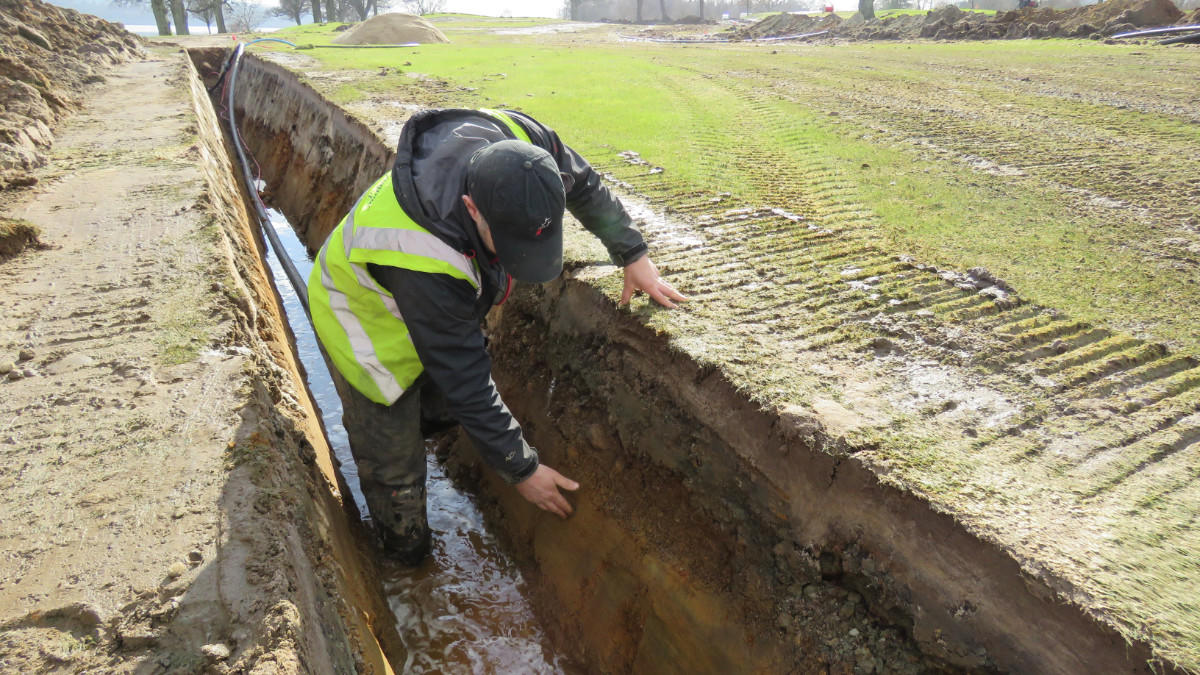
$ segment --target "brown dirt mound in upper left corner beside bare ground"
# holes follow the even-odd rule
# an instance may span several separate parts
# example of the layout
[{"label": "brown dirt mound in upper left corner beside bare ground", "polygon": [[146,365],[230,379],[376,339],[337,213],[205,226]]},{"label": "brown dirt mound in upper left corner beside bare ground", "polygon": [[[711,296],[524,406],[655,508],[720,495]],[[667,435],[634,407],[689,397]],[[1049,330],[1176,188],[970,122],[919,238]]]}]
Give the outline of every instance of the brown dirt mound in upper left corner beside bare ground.
[{"label": "brown dirt mound in upper left corner beside bare ground", "polygon": [[0,0],[0,190],[35,181],[79,90],[140,53],[116,24],[41,0]]}]

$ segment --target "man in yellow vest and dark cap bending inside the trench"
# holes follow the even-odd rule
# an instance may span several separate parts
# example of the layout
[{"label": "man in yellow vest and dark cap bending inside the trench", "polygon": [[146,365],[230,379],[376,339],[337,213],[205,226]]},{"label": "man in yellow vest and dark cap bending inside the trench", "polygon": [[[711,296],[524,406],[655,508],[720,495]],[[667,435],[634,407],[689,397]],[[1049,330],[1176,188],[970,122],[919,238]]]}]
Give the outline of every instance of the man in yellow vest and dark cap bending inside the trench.
[{"label": "man in yellow vest and dark cap bending inside the trench", "polygon": [[312,321],[336,372],[343,423],[371,519],[388,554],[418,565],[426,430],[449,413],[484,460],[562,518],[578,484],[539,462],[491,376],[481,321],[512,280],[563,269],[570,209],[625,270],[620,301],[684,300],[595,171],[548,127],[516,112],[426,110],[406,123],[391,171],[322,246],[308,281]]}]

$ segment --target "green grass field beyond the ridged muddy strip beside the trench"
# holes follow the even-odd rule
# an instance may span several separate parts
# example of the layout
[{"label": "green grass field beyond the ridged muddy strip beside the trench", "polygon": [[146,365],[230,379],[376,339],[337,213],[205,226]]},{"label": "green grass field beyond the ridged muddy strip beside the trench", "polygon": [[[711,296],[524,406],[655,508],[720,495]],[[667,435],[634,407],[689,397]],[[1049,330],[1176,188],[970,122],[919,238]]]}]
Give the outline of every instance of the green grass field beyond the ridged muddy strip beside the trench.
[{"label": "green grass field beyond the ridged muddy strip beside the trench", "polygon": [[[396,68],[343,86],[343,101],[392,88],[412,96],[419,88],[408,76],[420,73],[449,83],[427,94],[437,104],[528,112],[598,163],[637,150],[680,190],[870,227],[890,250],[986,267],[1081,319],[1200,345],[1200,97],[1181,79],[1200,67],[1196,49],[695,48],[475,30],[504,19],[434,20],[450,44],[308,53],[332,70]],[[844,185],[815,195],[806,172]],[[851,203],[853,220],[839,222],[835,211]]]}]

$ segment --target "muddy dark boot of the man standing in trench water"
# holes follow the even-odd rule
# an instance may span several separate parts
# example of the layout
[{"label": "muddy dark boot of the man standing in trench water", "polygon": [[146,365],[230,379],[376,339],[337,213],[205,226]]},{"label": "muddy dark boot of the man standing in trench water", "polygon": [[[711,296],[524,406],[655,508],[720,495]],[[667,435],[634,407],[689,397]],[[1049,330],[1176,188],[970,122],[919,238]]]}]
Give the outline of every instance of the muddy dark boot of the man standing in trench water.
[{"label": "muddy dark boot of the man standing in trench water", "polygon": [[362,492],[384,554],[408,567],[421,565],[432,543],[424,480],[419,486],[395,489],[364,484]]}]

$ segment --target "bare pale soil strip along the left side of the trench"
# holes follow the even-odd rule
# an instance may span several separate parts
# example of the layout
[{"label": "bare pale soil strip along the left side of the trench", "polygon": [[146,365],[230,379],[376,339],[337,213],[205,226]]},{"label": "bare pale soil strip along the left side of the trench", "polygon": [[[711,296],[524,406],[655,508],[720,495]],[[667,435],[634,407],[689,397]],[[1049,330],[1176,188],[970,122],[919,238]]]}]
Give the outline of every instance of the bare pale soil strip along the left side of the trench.
[{"label": "bare pale soil strip along the left side of the trench", "polygon": [[386,671],[188,72],[118,66],[2,195],[48,247],[0,263],[0,669]]}]

